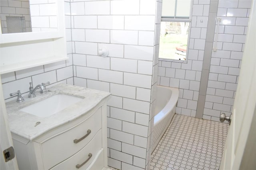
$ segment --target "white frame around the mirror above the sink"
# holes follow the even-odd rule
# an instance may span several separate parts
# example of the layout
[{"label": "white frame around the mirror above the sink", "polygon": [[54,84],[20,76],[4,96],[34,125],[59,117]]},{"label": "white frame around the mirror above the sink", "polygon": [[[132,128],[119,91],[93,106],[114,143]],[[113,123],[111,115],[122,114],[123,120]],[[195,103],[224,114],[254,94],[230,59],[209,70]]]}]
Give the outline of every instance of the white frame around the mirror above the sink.
[{"label": "white frame around the mirror above the sink", "polygon": [[58,31],[2,34],[2,29],[0,29],[0,44],[64,37],[65,35],[64,0],[56,0],[56,6],[57,6],[56,10],[57,10],[57,19],[58,19]]}]

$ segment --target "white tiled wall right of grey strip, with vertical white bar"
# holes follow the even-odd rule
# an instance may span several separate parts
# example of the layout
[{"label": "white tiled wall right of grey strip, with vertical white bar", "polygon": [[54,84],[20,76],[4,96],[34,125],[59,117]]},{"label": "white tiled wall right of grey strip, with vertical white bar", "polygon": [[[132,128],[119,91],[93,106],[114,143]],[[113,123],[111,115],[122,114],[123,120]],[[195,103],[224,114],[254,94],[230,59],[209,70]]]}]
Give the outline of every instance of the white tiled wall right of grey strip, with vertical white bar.
[{"label": "white tiled wall right of grey strip, with vertical white bar", "polygon": [[251,3],[251,0],[218,3],[218,50],[212,52],[203,119],[219,121],[221,112],[230,115],[232,111]]}]

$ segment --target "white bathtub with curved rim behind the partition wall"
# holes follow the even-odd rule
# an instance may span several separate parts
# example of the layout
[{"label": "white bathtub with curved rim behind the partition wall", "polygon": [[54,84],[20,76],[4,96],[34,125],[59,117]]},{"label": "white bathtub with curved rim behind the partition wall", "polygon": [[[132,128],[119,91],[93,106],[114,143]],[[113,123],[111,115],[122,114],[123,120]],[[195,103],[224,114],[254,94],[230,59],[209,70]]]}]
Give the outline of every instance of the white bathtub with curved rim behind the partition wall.
[{"label": "white bathtub with curved rim behind the partition wall", "polygon": [[154,126],[151,151],[153,152],[166,129],[170,125],[176,110],[179,89],[165,86],[156,87],[156,104],[154,109]]}]

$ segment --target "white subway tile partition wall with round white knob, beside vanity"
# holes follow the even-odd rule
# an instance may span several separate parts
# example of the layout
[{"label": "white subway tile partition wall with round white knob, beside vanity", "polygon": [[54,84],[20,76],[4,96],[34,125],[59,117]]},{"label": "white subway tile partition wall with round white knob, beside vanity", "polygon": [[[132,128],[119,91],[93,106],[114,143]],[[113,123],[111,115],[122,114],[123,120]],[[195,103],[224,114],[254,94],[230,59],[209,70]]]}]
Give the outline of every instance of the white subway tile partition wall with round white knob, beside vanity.
[{"label": "white subway tile partition wall with round white knob, beside vanity", "polygon": [[[74,85],[112,94],[108,165],[114,168],[145,169],[150,160],[155,13],[156,0],[71,2]],[[108,57],[98,56],[99,48]]]}]

